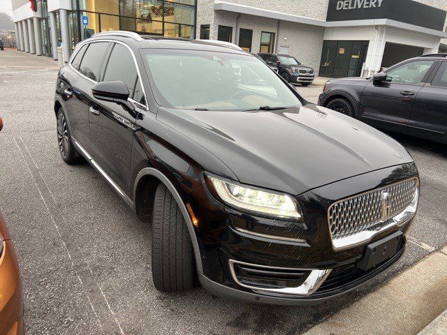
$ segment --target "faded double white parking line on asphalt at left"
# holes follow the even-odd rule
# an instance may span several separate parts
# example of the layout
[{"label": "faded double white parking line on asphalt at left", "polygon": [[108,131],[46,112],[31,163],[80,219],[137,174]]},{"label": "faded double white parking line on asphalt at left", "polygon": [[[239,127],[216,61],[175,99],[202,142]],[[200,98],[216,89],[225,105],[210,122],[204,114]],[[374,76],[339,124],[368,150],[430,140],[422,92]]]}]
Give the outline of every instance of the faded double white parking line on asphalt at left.
[{"label": "faded double white parking line on asphalt at left", "polygon": [[[50,191],[50,188],[48,187],[47,182],[45,181],[45,179],[43,178],[40,170],[38,169],[38,166],[36,165],[36,161],[34,161],[34,158],[31,156],[31,153],[29,152],[29,149],[27,148],[26,144],[24,144],[24,141],[23,141],[22,137],[18,137],[18,140],[19,141],[17,141],[17,138],[14,137],[15,145],[17,146],[17,149],[19,149],[20,154],[22,155],[22,158],[23,158],[25,164],[27,165],[27,168],[28,168],[28,170],[29,170],[29,172],[31,174],[31,177],[33,177],[33,179],[34,179],[34,185],[36,186],[36,188],[38,190],[38,193],[41,196],[41,199],[42,199],[43,203],[45,204],[45,208],[47,209],[48,214],[50,214],[50,218],[52,220],[54,228],[56,229],[57,234],[59,236],[59,239],[61,240],[61,243],[64,246],[65,252],[68,255],[68,259],[71,262],[71,271],[73,272],[73,274],[75,274],[76,278],[78,279],[78,281],[79,281],[79,283],[80,283],[80,285],[82,287],[82,290],[84,291],[85,295],[87,296],[87,300],[89,301],[89,305],[91,307],[91,310],[93,311],[93,313],[94,313],[94,315],[96,317],[96,320],[98,321],[98,325],[101,328],[103,334],[109,334],[110,332],[105,332],[105,329],[103,327],[103,322],[101,322],[100,317],[99,317],[99,315],[97,313],[97,310],[96,310],[96,308],[94,307],[94,304],[91,301],[91,297],[87,293],[87,292],[89,292],[89,290],[87,290],[87,286],[88,285],[85,283],[85,281],[82,281],[82,278],[80,277],[80,275],[75,271],[75,269],[77,268],[76,265],[75,265],[75,260],[73,260],[73,257],[71,255],[70,251],[68,250],[68,247],[66,246],[66,243],[64,241],[64,238],[61,235],[59,226],[56,223],[57,220],[54,218],[54,215],[60,216],[61,221],[65,221],[65,218],[64,218],[63,214],[61,214],[60,211],[56,208],[57,202],[56,202],[56,200],[54,198],[54,195]],[[21,146],[24,149],[22,149]],[[30,164],[33,164],[35,169],[34,168],[31,169]],[[36,171],[33,172],[33,170],[36,170],[37,172]],[[39,186],[39,182],[41,184],[42,183],[45,184],[45,186],[44,185]],[[41,188],[43,188],[43,189],[41,190]],[[50,198],[52,198],[53,205],[50,206],[50,207],[52,207],[54,213],[52,213],[52,210],[50,209],[47,200],[45,200],[46,197],[43,195],[43,193],[48,193],[50,195]],[[91,270],[89,265],[86,264],[86,262],[82,262],[82,266],[83,267],[87,267],[87,269],[89,269],[90,273],[93,274],[93,271]],[[110,313],[110,315],[108,315],[108,317],[110,318],[110,316],[111,316],[115,320],[115,324],[117,325],[120,334],[124,335],[123,329],[122,329],[121,325],[119,324],[117,318],[115,317],[115,313],[112,311],[112,308],[110,307],[108,299],[105,297],[105,294],[104,294],[102,288],[96,282],[90,283],[90,284],[91,285],[95,285],[96,288],[98,288],[98,290],[101,292],[101,295],[102,295],[101,300],[105,301],[105,304],[107,305],[107,309],[108,309],[108,311]],[[94,290],[94,291],[96,291],[96,290]],[[96,301],[97,301],[97,299],[96,299]],[[112,329],[108,329],[108,330],[112,331]]]}]

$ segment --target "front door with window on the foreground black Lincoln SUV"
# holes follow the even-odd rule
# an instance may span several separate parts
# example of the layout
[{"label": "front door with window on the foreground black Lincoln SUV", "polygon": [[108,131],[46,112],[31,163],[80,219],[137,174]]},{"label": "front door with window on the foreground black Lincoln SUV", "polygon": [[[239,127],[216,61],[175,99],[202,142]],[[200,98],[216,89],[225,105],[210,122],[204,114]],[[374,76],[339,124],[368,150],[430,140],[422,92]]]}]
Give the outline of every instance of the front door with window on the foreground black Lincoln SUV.
[{"label": "front door with window on the foreground black Lincoln SUV", "polygon": [[[131,198],[131,154],[135,117],[145,108],[138,71],[130,47],[113,45],[101,81],[120,80],[129,89],[135,111],[91,97],[91,156],[108,176]],[[135,100],[134,100],[135,99]]]}]

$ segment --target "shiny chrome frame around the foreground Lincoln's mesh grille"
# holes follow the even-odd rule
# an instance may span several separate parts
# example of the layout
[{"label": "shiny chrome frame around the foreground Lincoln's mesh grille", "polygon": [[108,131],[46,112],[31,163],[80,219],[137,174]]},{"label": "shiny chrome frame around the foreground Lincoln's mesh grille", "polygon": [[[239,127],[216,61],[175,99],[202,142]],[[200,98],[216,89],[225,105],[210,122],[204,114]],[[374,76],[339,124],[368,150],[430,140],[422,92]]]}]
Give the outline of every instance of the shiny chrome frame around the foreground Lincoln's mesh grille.
[{"label": "shiny chrome frame around the foreground Lincoln's mesh grille", "polygon": [[[404,211],[396,214],[392,218],[388,218],[387,221],[383,221],[383,222],[388,222],[388,223],[386,223],[386,225],[383,225],[378,230],[363,230],[362,232],[358,232],[358,233],[353,234],[353,235],[348,236],[348,237],[343,237],[343,238],[340,238],[340,239],[332,239],[332,234],[330,232],[330,215],[329,215],[331,207],[334,206],[335,204],[339,203],[339,202],[344,202],[346,200],[357,198],[357,197],[360,197],[362,195],[366,195],[368,193],[381,191],[384,188],[388,188],[390,186],[394,186],[396,184],[400,184],[400,183],[403,183],[404,181],[409,181],[409,180],[416,180],[416,191],[417,191],[417,194],[419,196],[419,185],[420,185],[419,178],[418,177],[410,177],[410,178],[402,179],[400,181],[395,181],[394,183],[388,184],[386,186],[381,186],[379,188],[374,188],[374,189],[372,189],[370,191],[358,193],[356,195],[352,195],[351,197],[343,198],[343,199],[340,199],[340,200],[337,200],[337,201],[333,202],[330,205],[330,207],[328,207],[328,213],[327,213],[328,228],[329,228],[330,241],[332,242],[332,248],[335,251],[342,251],[342,250],[346,250],[348,248],[354,248],[356,246],[360,246],[362,244],[368,243],[376,235],[381,234],[381,232],[385,232],[386,230],[388,230],[390,228],[393,228],[395,226],[403,227],[404,225],[409,223],[409,221],[411,221],[411,219],[414,218],[414,216],[416,216],[417,204],[416,204],[416,209],[411,213],[411,215],[407,213],[409,207],[411,207],[411,204],[409,204],[409,206],[406,207],[406,209],[404,209]],[[401,221],[399,221],[398,218],[400,218]]]}]

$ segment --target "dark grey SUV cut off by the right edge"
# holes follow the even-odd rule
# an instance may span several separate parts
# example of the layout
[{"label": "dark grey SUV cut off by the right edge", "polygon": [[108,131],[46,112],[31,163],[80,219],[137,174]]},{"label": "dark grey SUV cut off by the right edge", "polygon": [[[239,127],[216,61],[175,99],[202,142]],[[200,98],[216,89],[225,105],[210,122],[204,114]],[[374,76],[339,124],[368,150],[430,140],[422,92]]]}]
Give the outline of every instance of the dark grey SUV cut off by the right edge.
[{"label": "dark grey SUV cut off by the right edge", "polygon": [[372,77],[326,82],[318,104],[367,124],[447,143],[447,54],[407,59]]}]

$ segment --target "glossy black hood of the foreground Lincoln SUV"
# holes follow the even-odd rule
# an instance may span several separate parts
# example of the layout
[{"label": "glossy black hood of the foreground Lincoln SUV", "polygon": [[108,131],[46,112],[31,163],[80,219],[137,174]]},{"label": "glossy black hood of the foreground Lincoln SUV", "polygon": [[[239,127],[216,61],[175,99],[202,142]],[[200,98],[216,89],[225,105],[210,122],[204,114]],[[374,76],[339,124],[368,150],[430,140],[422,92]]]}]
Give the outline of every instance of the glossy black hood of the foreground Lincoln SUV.
[{"label": "glossy black hood of the foreground Lincoln SUV", "polygon": [[255,112],[160,109],[157,119],[205,147],[241,183],[294,195],[413,161],[388,135],[313,104]]}]

